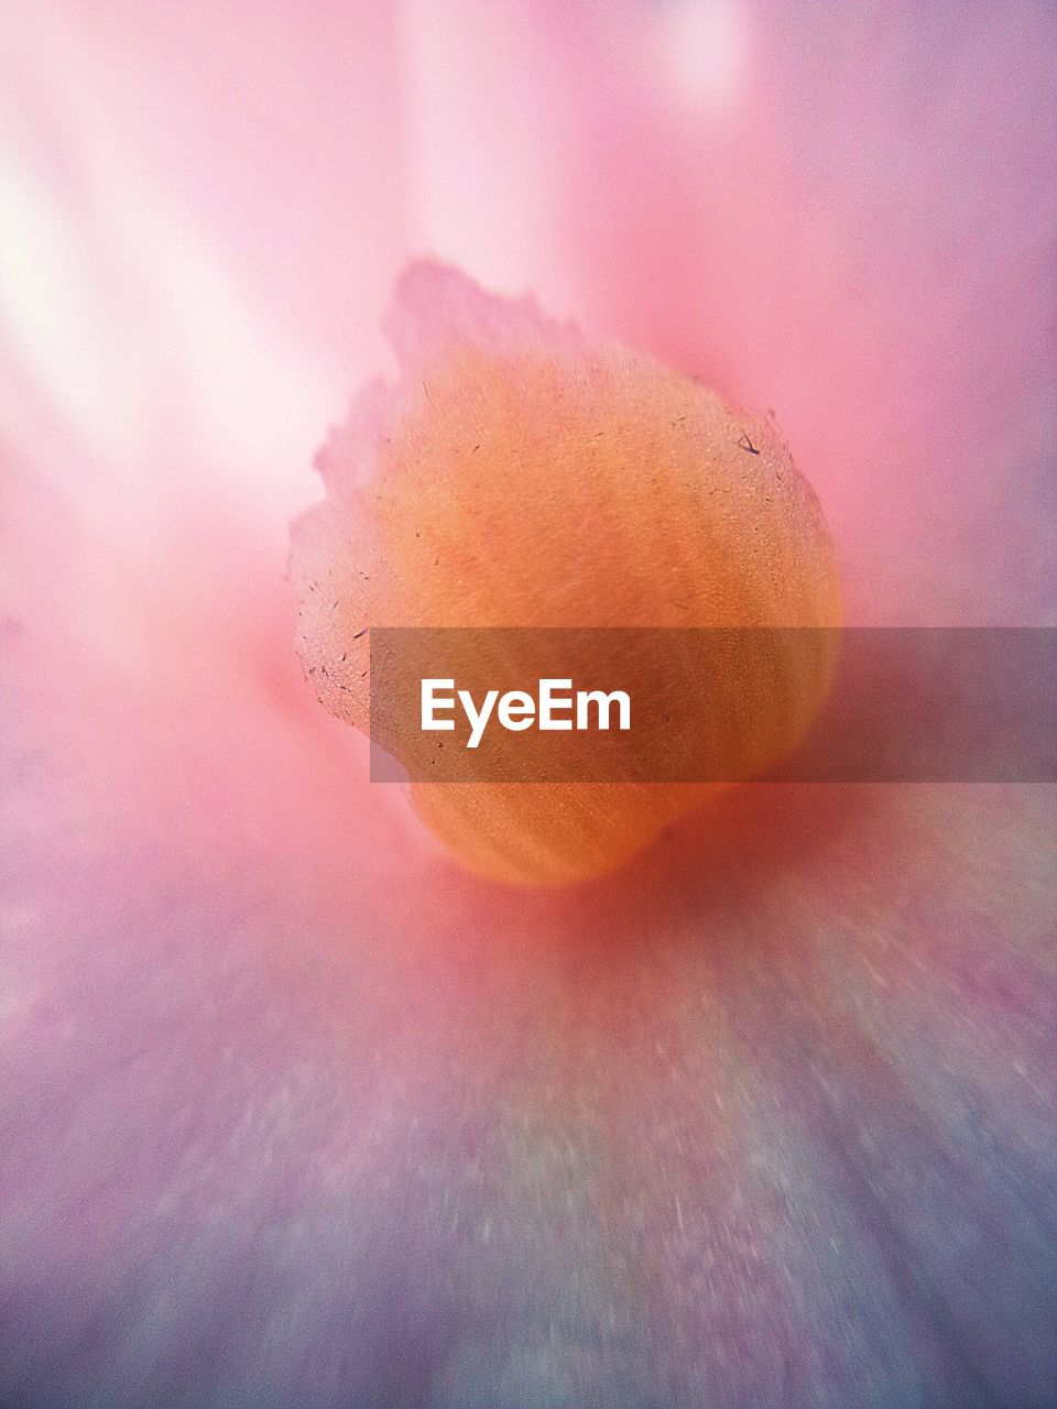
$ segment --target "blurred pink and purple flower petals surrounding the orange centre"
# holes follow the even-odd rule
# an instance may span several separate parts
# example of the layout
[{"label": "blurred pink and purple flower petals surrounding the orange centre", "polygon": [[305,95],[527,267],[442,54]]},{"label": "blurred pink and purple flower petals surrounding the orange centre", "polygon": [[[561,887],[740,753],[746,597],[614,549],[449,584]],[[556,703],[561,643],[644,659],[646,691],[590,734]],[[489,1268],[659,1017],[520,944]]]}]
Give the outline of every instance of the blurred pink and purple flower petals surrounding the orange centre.
[{"label": "blurred pink and purple flower petals surrounding the orange centre", "polygon": [[775,407],[853,620],[1051,624],[1053,41],[6,7],[0,1399],[1054,1403],[1051,788],[760,785],[510,893],[282,581],[427,251]]}]

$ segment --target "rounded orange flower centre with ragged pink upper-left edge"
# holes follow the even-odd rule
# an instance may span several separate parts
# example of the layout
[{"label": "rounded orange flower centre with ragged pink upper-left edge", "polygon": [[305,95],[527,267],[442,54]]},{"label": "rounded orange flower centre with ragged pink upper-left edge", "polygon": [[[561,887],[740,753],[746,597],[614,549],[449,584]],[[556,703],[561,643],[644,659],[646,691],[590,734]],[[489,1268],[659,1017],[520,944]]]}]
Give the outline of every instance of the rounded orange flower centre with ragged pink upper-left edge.
[{"label": "rounded orange flower centre with ragged pink upper-left edge", "polygon": [[[819,504],[769,417],[431,265],[404,278],[390,335],[402,379],[334,434],[330,497],[295,534],[302,657],[340,719],[368,728],[371,626],[839,623]],[[772,703],[723,721],[755,769],[829,686],[832,661],[785,641],[754,665]],[[464,864],[545,885],[622,864],[709,790],[428,783],[413,800]]]}]

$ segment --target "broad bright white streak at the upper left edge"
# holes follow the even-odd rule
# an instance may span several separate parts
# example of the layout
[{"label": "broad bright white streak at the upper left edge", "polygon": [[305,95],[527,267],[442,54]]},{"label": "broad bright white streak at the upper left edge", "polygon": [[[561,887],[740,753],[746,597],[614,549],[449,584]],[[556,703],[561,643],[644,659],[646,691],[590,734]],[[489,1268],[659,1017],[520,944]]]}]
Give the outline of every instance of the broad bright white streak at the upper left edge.
[{"label": "broad bright white streak at the upper left edge", "polygon": [[[166,189],[87,31],[62,7],[18,28],[18,82],[0,99],[0,316],[68,434],[118,476],[92,496],[149,507],[178,461],[185,483],[245,490],[251,516],[297,507],[310,476],[290,466],[307,466],[341,406],[337,372],[269,325]],[[56,155],[6,135],[25,131],[20,93],[44,101]]]}]

